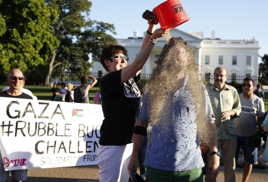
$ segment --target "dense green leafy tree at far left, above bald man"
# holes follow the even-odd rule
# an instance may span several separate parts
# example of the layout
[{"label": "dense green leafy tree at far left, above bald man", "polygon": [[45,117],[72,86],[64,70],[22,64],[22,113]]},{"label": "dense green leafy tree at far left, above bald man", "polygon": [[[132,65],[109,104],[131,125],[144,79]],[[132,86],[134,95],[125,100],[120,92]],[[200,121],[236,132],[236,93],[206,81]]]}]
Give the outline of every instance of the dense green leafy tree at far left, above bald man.
[{"label": "dense green leafy tree at far left, above bald man", "polygon": [[0,0],[0,71],[43,69],[58,47],[57,16],[43,0]]}]

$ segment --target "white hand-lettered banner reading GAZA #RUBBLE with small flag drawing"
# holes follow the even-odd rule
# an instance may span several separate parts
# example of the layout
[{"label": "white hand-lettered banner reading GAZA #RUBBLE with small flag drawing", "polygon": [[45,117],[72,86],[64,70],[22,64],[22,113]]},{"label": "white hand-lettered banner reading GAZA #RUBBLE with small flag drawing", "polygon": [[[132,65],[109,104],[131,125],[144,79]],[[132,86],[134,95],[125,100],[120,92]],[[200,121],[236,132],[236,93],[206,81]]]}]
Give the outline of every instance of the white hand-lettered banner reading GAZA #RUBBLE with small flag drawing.
[{"label": "white hand-lettered banner reading GAZA #RUBBLE with small flag drawing", "polygon": [[101,105],[0,97],[5,170],[96,165]]}]

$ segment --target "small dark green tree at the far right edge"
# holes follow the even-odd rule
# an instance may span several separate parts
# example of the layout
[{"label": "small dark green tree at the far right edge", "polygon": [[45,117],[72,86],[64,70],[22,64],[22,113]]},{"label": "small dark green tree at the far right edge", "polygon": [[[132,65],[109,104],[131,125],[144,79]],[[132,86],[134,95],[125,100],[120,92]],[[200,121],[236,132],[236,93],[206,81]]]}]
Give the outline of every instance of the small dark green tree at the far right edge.
[{"label": "small dark green tree at the far right edge", "polygon": [[261,58],[263,63],[259,64],[259,83],[268,85],[268,55],[265,54]]}]

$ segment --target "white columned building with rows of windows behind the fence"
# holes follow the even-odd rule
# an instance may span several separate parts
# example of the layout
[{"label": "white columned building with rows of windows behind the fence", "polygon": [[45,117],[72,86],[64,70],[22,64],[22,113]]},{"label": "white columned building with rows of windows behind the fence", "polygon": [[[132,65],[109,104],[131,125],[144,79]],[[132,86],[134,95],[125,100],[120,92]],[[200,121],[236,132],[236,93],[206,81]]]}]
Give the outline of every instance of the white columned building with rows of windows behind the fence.
[{"label": "white columned building with rows of windows behind the fence", "polygon": [[[143,36],[145,36],[143,33]],[[215,38],[215,31],[211,32],[210,38],[203,38],[203,32],[186,33],[179,29],[170,30],[171,36],[182,37],[188,42],[200,65],[203,77],[209,77],[218,66],[227,69],[228,75],[235,78],[236,76],[258,76],[258,51],[260,49],[259,41],[255,38],[248,40],[221,40]],[[117,43],[128,49],[128,57],[131,64],[140,51],[143,37],[138,37],[138,32],[134,31],[134,37],[127,39],[117,39]],[[156,66],[158,56],[165,44],[164,37],[158,39],[154,46],[141,74],[150,74]],[[94,62],[92,73],[99,75],[106,71],[100,62]]]}]

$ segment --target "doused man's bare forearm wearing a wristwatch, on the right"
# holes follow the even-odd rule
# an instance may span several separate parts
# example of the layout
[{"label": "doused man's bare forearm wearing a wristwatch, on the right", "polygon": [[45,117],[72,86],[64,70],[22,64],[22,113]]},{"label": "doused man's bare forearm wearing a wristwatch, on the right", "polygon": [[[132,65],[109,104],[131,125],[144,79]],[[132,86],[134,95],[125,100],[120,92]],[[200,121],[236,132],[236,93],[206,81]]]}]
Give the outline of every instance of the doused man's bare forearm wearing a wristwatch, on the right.
[{"label": "doused man's bare forearm wearing a wristwatch, on the right", "polygon": [[[209,140],[209,149],[210,152],[217,152],[218,151],[218,142],[217,142],[217,132],[216,132],[216,127],[215,127],[215,122],[210,121],[208,122],[208,131],[210,131],[211,136]],[[219,156],[216,154],[211,156],[211,161],[208,164],[208,173],[207,176],[210,176],[208,182],[211,182],[215,180],[218,176],[219,173]]]}]

